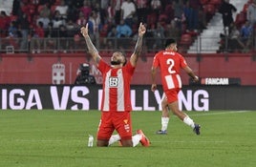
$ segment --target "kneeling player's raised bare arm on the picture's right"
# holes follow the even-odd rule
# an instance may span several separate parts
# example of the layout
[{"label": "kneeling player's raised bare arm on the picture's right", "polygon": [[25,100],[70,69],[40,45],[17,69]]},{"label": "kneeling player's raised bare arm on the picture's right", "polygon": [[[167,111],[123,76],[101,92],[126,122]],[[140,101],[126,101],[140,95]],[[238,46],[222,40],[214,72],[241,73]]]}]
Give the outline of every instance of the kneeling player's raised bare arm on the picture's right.
[{"label": "kneeling player's raised bare arm on the picture's right", "polygon": [[142,43],[143,43],[142,39],[143,39],[143,35],[146,32],[146,28],[142,23],[139,24],[138,32],[139,32],[139,34],[138,34],[138,39],[137,39],[137,43],[135,46],[135,51],[133,52],[133,54],[131,55],[131,58],[130,58],[130,62],[134,67],[137,65],[139,55],[142,51]]}]

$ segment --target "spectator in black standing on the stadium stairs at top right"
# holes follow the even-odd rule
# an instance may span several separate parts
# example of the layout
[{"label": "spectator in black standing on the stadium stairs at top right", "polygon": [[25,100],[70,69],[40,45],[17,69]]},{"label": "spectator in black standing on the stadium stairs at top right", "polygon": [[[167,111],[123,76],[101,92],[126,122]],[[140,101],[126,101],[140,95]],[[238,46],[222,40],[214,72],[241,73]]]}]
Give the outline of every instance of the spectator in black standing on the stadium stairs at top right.
[{"label": "spectator in black standing on the stadium stairs at top right", "polygon": [[236,12],[235,6],[229,3],[229,0],[224,0],[219,12],[223,15],[224,31],[225,34],[230,32],[230,25],[234,24],[233,12]]}]

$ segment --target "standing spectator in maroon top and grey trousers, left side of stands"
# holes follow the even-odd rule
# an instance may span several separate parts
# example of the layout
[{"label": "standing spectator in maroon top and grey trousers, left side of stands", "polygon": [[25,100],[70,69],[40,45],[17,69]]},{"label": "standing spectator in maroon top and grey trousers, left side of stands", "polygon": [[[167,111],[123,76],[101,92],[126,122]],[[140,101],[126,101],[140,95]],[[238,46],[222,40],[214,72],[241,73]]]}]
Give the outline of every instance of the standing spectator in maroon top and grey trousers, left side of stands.
[{"label": "standing spectator in maroon top and grey trousers, left side of stands", "polygon": [[32,31],[32,53],[40,52],[41,46],[43,44],[43,38],[45,37],[44,24],[42,22],[38,22],[38,25]]}]

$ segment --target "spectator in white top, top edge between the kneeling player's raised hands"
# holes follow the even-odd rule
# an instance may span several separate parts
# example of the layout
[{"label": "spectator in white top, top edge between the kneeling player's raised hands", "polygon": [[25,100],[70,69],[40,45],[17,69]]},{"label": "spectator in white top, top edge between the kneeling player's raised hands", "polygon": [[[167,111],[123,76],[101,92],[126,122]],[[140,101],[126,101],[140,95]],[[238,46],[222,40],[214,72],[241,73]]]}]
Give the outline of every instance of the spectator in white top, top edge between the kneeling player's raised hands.
[{"label": "spectator in white top, top edge between the kneeling player's raised hands", "polygon": [[132,0],[124,0],[121,4],[121,19],[124,20],[125,24],[128,25],[131,29],[134,24],[134,17],[136,13],[136,6]]}]

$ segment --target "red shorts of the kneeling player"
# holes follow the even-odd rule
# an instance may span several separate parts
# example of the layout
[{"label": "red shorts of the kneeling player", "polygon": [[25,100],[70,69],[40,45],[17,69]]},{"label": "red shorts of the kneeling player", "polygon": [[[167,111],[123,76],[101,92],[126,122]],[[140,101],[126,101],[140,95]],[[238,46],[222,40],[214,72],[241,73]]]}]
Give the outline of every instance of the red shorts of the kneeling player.
[{"label": "red shorts of the kneeling player", "polygon": [[101,112],[97,139],[109,140],[115,130],[121,139],[132,139],[130,112]]}]

